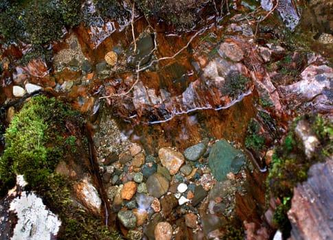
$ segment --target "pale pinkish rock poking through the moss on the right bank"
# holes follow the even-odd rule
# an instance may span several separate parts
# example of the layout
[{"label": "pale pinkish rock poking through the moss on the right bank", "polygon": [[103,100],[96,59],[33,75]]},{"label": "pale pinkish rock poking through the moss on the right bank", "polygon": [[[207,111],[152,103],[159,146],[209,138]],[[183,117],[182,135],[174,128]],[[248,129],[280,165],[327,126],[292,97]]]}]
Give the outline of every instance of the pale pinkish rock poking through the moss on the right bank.
[{"label": "pale pinkish rock poking through the moss on the right bank", "polygon": [[310,159],[316,151],[317,147],[320,145],[316,134],[314,134],[310,124],[305,120],[301,119],[298,121],[295,128],[296,136],[303,141],[304,152],[306,156]]}]

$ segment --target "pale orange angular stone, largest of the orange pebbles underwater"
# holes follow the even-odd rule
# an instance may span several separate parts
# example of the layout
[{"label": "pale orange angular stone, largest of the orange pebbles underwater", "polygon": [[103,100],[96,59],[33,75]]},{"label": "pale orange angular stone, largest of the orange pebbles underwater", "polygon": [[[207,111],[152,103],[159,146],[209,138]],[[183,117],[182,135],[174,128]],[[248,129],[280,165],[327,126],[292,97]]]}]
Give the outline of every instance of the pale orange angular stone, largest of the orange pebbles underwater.
[{"label": "pale orange angular stone, largest of the orange pebbles underwater", "polygon": [[159,159],[164,167],[166,167],[171,175],[176,174],[181,165],[185,162],[183,154],[168,147],[159,149]]}]

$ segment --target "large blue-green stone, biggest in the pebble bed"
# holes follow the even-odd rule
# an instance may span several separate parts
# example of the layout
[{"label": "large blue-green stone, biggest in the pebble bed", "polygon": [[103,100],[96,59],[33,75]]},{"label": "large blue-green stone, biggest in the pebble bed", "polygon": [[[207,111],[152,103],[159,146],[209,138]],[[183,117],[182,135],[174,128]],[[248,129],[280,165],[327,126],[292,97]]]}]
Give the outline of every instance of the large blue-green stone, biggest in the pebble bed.
[{"label": "large blue-green stone, biggest in the pebble bed", "polygon": [[227,173],[238,173],[244,164],[244,154],[231,146],[224,139],[216,142],[211,147],[208,161],[211,173],[218,181],[227,180]]}]

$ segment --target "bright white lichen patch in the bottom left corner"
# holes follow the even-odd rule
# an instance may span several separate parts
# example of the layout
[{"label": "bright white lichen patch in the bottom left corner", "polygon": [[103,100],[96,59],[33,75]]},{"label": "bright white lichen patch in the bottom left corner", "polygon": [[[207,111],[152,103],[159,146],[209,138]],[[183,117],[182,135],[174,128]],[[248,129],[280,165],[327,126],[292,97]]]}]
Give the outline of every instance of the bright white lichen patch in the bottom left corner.
[{"label": "bright white lichen patch in the bottom left corner", "polygon": [[[20,181],[21,182],[21,181]],[[58,233],[61,221],[47,210],[40,197],[23,191],[10,204],[10,211],[17,214],[18,221],[11,239],[51,239]]]}]

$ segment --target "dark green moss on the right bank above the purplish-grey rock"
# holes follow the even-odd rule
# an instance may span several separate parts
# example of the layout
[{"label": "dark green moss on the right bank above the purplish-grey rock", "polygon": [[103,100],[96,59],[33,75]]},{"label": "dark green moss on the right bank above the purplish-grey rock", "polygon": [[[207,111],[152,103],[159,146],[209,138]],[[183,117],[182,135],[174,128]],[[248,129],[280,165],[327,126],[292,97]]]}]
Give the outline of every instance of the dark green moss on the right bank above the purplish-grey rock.
[{"label": "dark green moss on the right bank above the purplish-grey rock", "polygon": [[293,189],[298,182],[306,181],[308,169],[314,163],[324,160],[333,154],[333,123],[329,117],[321,115],[303,117],[306,119],[320,141],[318,151],[308,159],[304,154],[303,143],[295,135],[295,126],[298,118],[292,125],[284,143],[275,148],[270,173],[267,178],[269,193],[276,197],[281,204],[275,209],[273,221],[282,231],[284,237],[290,235],[291,225],[287,211],[291,206]]}]

